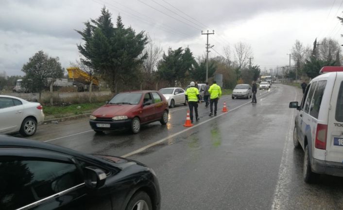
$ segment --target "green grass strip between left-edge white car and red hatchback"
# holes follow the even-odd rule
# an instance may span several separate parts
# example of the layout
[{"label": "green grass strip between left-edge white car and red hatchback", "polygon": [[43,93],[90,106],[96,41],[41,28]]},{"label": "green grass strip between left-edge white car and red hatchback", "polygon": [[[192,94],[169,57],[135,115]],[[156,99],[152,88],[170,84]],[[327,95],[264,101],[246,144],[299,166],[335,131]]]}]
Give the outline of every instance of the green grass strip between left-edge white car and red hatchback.
[{"label": "green grass strip between left-edge white car and red hatchback", "polygon": [[[61,117],[64,115],[81,115],[103,106],[105,103],[83,103],[69,106],[44,106],[43,112],[46,116],[53,115]],[[80,109],[77,107],[80,106]]]}]

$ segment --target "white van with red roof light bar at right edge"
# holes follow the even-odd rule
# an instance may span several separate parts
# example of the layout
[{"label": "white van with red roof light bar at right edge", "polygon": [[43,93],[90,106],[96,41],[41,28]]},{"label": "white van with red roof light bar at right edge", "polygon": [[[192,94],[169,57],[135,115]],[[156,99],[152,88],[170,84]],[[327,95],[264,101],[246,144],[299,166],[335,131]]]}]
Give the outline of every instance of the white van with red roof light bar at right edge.
[{"label": "white van with red roof light bar at right edge", "polygon": [[295,117],[293,144],[302,148],[304,180],[318,173],[343,176],[343,67],[325,66],[306,88]]}]

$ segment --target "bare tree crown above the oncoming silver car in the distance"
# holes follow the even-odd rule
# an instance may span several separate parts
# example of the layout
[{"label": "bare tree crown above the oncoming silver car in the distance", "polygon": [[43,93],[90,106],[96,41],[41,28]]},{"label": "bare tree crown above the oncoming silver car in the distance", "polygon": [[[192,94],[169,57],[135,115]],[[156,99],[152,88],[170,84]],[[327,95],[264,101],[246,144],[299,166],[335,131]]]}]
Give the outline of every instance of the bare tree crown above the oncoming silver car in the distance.
[{"label": "bare tree crown above the oncoming silver car in the distance", "polygon": [[245,42],[238,42],[235,44],[234,56],[239,69],[244,69],[248,64],[248,57],[252,56],[252,49],[250,44]]}]

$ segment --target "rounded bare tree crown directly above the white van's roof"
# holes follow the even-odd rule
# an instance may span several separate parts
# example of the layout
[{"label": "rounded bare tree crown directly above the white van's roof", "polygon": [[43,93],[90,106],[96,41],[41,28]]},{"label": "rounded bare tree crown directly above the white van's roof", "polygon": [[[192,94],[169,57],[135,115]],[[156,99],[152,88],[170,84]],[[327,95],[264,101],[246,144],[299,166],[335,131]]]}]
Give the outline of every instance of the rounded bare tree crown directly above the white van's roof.
[{"label": "rounded bare tree crown directly above the white van's roof", "polygon": [[341,52],[340,44],[337,40],[332,38],[323,38],[318,47],[319,57],[322,60],[330,61],[334,60],[337,52]]}]

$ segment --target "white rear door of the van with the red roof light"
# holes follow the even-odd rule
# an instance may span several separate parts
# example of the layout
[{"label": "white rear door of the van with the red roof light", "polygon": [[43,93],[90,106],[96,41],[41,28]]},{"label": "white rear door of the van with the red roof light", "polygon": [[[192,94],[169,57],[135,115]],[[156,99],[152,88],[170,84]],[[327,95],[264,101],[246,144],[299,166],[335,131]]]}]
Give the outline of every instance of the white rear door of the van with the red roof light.
[{"label": "white rear door of the van with the red roof light", "polygon": [[333,87],[327,123],[326,161],[343,162],[343,73]]}]

